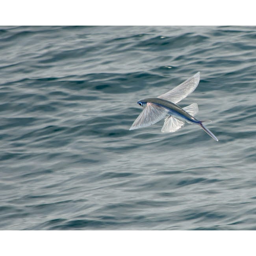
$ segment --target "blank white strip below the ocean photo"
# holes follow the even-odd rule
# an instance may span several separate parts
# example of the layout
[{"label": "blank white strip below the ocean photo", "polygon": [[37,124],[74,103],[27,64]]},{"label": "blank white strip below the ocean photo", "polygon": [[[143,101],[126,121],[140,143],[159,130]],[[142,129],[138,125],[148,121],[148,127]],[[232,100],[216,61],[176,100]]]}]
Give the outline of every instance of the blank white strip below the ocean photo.
[{"label": "blank white strip below the ocean photo", "polygon": [[2,231],[2,255],[254,255],[255,231]]}]

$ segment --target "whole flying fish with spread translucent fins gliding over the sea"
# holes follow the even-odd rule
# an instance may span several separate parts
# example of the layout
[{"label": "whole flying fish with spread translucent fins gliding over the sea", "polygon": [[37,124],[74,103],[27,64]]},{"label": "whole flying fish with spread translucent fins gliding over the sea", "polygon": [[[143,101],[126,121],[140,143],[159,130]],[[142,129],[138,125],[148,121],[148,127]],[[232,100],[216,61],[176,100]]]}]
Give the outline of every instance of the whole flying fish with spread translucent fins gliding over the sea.
[{"label": "whole flying fish with spread translucent fins gliding over the sea", "polygon": [[[203,124],[206,121],[197,120],[194,115],[198,113],[197,103],[181,108],[176,103],[192,93],[200,80],[200,72],[187,79],[171,91],[158,97],[145,98],[139,100],[137,104],[144,109],[132,124],[130,130],[143,128],[155,124],[166,115],[161,132],[175,132],[184,126],[185,122],[199,125],[207,134],[218,141],[217,137]],[[207,122],[211,122],[208,120]]]}]

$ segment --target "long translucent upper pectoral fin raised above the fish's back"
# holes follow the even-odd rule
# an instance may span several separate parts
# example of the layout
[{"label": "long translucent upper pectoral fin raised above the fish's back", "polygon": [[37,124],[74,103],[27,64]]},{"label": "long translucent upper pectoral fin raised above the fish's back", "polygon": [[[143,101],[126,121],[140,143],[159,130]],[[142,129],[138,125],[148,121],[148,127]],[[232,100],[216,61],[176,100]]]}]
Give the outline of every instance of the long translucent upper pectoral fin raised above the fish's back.
[{"label": "long translucent upper pectoral fin raised above the fish's back", "polygon": [[187,79],[185,82],[181,83],[171,91],[158,96],[158,98],[177,103],[182,99],[186,98],[187,95],[192,93],[197,88],[199,80],[200,72],[197,72],[197,74],[193,75],[191,78]]}]

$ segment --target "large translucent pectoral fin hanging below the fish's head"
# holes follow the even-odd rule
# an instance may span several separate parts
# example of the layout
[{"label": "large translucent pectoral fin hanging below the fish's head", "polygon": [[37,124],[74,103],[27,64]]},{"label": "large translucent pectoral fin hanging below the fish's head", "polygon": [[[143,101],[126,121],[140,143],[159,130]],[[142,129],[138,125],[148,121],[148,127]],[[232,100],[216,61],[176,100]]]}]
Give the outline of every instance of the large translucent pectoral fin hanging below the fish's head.
[{"label": "large translucent pectoral fin hanging below the fish's head", "polygon": [[147,106],[143,109],[140,115],[132,124],[130,130],[143,128],[155,124],[163,119],[167,115],[168,111],[154,103],[147,103]]}]

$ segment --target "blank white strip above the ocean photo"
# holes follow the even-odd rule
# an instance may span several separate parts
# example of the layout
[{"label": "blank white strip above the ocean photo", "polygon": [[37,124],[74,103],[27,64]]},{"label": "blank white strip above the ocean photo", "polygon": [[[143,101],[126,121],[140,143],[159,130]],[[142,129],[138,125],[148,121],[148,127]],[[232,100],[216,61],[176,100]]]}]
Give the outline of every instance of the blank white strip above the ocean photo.
[{"label": "blank white strip above the ocean photo", "polygon": [[0,25],[255,25],[253,1],[9,0]]}]

